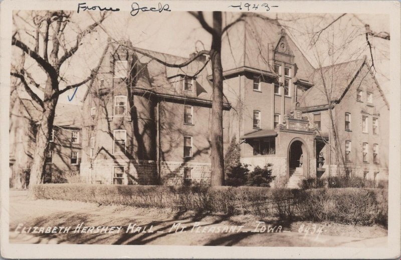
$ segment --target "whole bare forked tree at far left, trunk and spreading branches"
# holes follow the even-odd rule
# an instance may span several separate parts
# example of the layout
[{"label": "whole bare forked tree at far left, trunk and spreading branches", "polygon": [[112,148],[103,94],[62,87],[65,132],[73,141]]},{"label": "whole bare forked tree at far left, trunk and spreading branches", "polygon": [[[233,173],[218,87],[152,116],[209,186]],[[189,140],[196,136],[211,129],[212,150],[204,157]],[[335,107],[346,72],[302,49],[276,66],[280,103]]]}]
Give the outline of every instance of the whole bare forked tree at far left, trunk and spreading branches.
[{"label": "whole bare forked tree at far left, trunk and spreading branches", "polygon": [[[83,39],[95,31],[98,25],[106,19],[107,13],[103,13],[97,21],[78,33],[74,33],[74,30],[72,30],[72,14],[72,12],[64,11],[33,11],[27,19],[19,16],[18,13],[14,16],[14,24],[16,24],[16,19],[22,20],[28,29],[25,31],[16,30],[12,37],[12,45],[22,51],[25,57],[31,59],[35,66],[40,68],[45,74],[45,83],[39,84],[24,65],[18,68],[13,66],[11,71],[11,76],[19,79],[26,92],[43,110],[36,136],[30,184],[38,184],[42,181],[42,175],[45,171],[46,153],[53,129],[55,109],[60,95],[89,82],[95,76],[100,66],[99,62],[99,65],[84,80],[73,84],[65,84],[66,79],[63,78],[64,71],[62,70],[62,66],[64,65],[64,70],[68,70],[68,61],[77,53]],[[30,34],[32,31],[34,31],[33,35]],[[72,41],[72,44],[70,42],[71,34],[75,34],[75,40]],[[33,44],[32,41],[25,41],[27,43],[23,41],[23,37],[26,35],[34,40]],[[62,82],[66,85],[63,89],[60,88],[63,86]],[[36,94],[37,91],[43,92],[43,98],[40,98]],[[30,185],[31,191],[32,186]]]}]

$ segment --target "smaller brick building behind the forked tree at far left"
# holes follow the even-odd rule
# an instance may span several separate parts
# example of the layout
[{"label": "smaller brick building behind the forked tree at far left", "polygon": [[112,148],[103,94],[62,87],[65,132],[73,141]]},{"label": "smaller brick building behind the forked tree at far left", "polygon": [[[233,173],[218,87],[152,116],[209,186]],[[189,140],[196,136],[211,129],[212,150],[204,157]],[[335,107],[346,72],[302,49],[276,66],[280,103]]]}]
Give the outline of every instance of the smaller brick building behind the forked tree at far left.
[{"label": "smaller brick building behind the forked tree at far left", "polygon": [[[10,109],[10,186],[27,187],[35,151],[37,122],[42,108],[31,99],[17,97]],[[44,182],[65,182],[78,175],[81,154],[81,107],[58,104]]]}]

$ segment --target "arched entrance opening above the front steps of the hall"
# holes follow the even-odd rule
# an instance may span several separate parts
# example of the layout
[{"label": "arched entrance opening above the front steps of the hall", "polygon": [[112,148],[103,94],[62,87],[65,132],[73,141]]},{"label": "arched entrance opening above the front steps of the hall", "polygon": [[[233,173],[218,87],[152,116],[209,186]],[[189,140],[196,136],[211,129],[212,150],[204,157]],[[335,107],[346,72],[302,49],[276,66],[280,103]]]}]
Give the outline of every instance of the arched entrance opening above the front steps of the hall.
[{"label": "arched entrance opening above the front steps of the hall", "polygon": [[309,152],[304,140],[294,138],[288,145],[287,177],[290,178],[296,168],[299,170],[299,167],[302,170],[303,176],[306,177],[309,172]]}]

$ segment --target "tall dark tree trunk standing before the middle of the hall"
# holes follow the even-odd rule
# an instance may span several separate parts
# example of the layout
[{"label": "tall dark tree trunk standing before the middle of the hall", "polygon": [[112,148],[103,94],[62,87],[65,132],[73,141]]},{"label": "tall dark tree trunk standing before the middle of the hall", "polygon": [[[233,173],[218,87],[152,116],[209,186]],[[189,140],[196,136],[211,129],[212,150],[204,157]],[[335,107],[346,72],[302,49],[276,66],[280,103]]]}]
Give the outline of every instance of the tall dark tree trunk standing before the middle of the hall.
[{"label": "tall dark tree trunk standing before the middle of the hall", "polygon": [[212,103],[212,186],[224,185],[223,154],[223,68],[222,50],[222,13],[213,12],[211,61],[213,71],[213,103]]}]

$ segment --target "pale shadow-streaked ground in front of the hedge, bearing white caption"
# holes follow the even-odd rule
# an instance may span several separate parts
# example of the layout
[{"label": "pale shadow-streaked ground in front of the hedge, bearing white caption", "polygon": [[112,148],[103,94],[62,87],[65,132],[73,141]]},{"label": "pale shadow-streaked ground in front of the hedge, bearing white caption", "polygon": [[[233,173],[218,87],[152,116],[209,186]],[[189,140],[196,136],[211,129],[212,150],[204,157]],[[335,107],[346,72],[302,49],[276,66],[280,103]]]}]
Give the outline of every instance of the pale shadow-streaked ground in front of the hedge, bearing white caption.
[{"label": "pale shadow-streaked ground in front of the hedge, bearing white caption", "polygon": [[[81,223],[78,229],[77,225]],[[28,200],[23,191],[12,191],[10,198],[12,243],[353,247],[385,246],[387,243],[387,236],[382,230],[374,230],[377,237],[327,235],[325,226],[320,225],[320,234],[310,234],[298,232],[300,224],[309,226],[310,230],[313,228],[313,223],[303,222],[290,226],[256,221],[243,224],[236,223],[235,218],[224,216],[189,217],[185,213],[170,210],[99,206],[77,201]],[[35,226],[38,227],[37,233],[32,232]],[[21,233],[24,227],[25,230],[31,227],[30,232]],[[42,232],[40,227],[43,227]],[[58,230],[46,232],[48,227],[58,227]],[[64,227],[64,231],[60,231],[61,227]],[[65,232],[68,227],[70,229]],[[105,231],[106,227],[107,232],[96,233],[96,230]],[[364,230],[373,228],[363,227]]]}]

